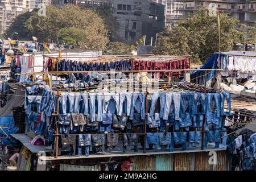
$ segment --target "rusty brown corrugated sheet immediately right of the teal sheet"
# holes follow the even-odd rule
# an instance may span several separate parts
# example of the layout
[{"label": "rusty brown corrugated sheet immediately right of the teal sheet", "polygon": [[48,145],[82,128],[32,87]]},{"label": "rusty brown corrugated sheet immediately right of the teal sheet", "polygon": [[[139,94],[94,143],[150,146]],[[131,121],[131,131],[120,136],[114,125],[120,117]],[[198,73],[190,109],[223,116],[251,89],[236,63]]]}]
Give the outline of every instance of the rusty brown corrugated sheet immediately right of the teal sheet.
[{"label": "rusty brown corrugated sheet immediately right of the teal sheet", "polygon": [[191,156],[189,153],[174,154],[174,170],[175,171],[191,170]]}]

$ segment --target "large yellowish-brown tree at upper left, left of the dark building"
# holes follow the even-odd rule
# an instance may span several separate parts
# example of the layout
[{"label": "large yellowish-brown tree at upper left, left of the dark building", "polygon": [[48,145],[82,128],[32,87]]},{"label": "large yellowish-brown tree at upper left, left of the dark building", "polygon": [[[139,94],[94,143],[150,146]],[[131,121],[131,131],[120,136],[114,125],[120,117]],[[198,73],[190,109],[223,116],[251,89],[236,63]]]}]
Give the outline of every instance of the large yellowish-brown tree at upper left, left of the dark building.
[{"label": "large yellowish-brown tree at upper left, left of the dark building", "polygon": [[[100,16],[89,9],[80,9],[76,5],[64,5],[62,8],[49,5],[46,16],[33,13],[26,21],[26,27],[39,41],[65,39],[80,41],[81,48],[104,49],[109,42],[108,31]],[[68,35],[68,31],[70,35]]]}]

